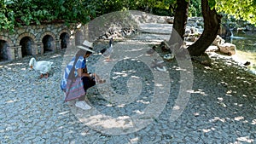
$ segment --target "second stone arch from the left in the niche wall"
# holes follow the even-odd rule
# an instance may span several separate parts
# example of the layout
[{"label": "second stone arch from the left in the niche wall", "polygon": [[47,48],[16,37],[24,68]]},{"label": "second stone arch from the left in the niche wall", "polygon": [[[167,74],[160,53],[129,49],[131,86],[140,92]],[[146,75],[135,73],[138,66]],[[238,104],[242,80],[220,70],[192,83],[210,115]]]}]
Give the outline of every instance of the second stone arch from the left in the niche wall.
[{"label": "second stone arch from the left in the niche wall", "polygon": [[34,43],[36,42],[36,37],[30,32],[24,32],[20,34],[17,38],[17,42],[21,46],[21,55],[22,57],[26,55],[35,55],[37,54],[37,48]]}]

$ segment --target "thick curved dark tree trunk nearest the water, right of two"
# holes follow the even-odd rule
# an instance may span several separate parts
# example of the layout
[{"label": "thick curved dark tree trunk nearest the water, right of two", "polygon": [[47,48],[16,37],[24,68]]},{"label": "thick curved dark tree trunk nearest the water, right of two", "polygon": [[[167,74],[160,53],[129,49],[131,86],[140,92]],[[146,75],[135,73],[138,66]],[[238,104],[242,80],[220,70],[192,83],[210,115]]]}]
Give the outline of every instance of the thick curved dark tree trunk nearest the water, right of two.
[{"label": "thick curved dark tree trunk nearest the water, right of two", "polygon": [[208,0],[201,0],[201,9],[204,18],[204,31],[201,37],[189,46],[189,54],[198,56],[202,55],[206,49],[212,44],[217,36],[221,16],[217,14],[215,9],[210,9]]}]

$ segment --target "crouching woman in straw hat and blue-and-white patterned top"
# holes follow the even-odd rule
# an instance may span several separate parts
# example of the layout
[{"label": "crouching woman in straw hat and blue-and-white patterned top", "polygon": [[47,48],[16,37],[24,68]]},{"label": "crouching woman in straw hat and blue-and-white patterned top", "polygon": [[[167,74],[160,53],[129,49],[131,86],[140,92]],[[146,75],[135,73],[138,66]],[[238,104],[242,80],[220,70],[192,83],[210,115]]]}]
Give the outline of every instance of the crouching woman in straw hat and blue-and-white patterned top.
[{"label": "crouching woman in straw hat and blue-and-white patterned top", "polygon": [[[86,90],[90,87],[96,85],[96,81],[98,83],[104,83],[102,79],[100,79],[96,73],[88,73],[87,66],[86,66],[86,58],[89,57],[94,51],[92,50],[92,43],[88,41],[84,41],[81,46],[78,46],[79,51],[73,57],[73,59],[67,64],[65,72],[63,74],[63,78],[61,79],[61,89],[68,95],[66,95],[65,101],[72,101],[74,99],[79,99],[76,101],[75,106],[82,108],[84,110],[88,110],[91,107],[84,101],[85,94],[81,95],[83,92],[86,93]],[[68,81],[74,82],[77,78],[81,79],[84,85],[83,92],[79,89],[79,83],[75,83],[77,85],[67,85]],[[67,87],[69,89],[67,89]],[[71,89],[75,89],[73,93],[69,91]],[[78,89],[77,89],[78,88]]]}]

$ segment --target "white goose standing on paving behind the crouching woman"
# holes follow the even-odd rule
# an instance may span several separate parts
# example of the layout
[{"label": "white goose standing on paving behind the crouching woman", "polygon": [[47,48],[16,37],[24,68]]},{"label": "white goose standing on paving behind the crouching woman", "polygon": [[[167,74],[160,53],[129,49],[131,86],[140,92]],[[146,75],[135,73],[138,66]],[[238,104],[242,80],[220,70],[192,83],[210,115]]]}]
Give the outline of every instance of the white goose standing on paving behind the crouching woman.
[{"label": "white goose standing on paving behind the crouching woman", "polygon": [[47,61],[47,60],[37,61],[34,57],[32,57],[31,60],[29,61],[30,68],[41,73],[40,78],[49,77],[49,71],[51,69],[52,64],[53,64],[52,61]]}]

